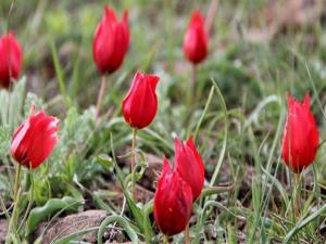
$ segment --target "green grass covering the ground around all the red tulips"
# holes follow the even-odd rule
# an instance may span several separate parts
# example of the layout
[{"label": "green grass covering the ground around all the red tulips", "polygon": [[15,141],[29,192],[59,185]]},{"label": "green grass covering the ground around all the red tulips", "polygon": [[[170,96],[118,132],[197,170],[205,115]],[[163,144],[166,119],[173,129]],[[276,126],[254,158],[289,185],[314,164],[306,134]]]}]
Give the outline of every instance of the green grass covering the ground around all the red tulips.
[{"label": "green grass covering the ground around all the red tulips", "polygon": [[[202,2],[198,1],[199,9],[206,13],[210,1]],[[109,77],[102,114],[109,108],[112,113],[96,127],[93,104],[101,78],[92,62],[91,42],[105,1],[16,0],[8,18],[11,3],[0,3],[0,33],[9,26],[23,44],[26,80],[22,78],[12,92],[0,91],[0,200],[7,208],[13,197],[10,168],[16,166],[10,157],[12,132],[32,102],[61,119],[60,141],[51,157],[32,181],[28,170],[23,170],[23,189],[33,185],[34,193],[22,195],[22,218],[23,209],[28,203],[32,206],[22,236],[41,220],[91,205],[111,213],[99,233],[116,221],[134,242],[162,242],[153,228],[151,203],[136,205],[129,197],[130,176],[124,166],[131,129],[124,123],[121,103],[140,69],[158,74],[161,81],[158,116],[138,133],[139,154],[171,158],[173,137],[185,140],[195,133],[205,163],[205,185],[211,189],[196,203],[192,243],[325,243],[321,231],[326,217],[325,145],[301,176],[306,184],[300,187],[299,221],[293,213],[293,176],[283,164],[280,151],[287,92],[302,100],[310,91],[321,141],[326,138],[326,36],[321,23],[279,31],[267,44],[252,43],[239,29],[246,34],[265,25],[261,14],[265,1],[221,1],[210,55],[198,70],[200,97],[190,110],[186,94],[191,66],[181,44],[192,2],[110,1],[120,13],[129,10],[130,47],[123,66]],[[140,172],[146,170],[146,162],[139,162],[139,167]],[[123,185],[125,211],[112,202],[113,185]],[[1,214],[5,218],[8,213],[2,209]],[[67,243],[78,234],[55,243]],[[174,237],[175,243],[183,240],[183,234]]]}]

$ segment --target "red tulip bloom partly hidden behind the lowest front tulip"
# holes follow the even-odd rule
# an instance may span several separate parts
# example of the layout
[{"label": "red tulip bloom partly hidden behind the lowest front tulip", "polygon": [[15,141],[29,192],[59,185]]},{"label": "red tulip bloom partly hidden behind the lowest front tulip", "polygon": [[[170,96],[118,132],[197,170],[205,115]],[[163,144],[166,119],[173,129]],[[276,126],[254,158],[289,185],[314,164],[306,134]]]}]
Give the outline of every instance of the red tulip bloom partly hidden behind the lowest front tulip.
[{"label": "red tulip bloom partly hidden behind the lowest front tulip", "polygon": [[192,198],[196,201],[204,183],[204,165],[199,155],[192,137],[185,143],[175,140],[175,169],[179,176],[191,187]]}]

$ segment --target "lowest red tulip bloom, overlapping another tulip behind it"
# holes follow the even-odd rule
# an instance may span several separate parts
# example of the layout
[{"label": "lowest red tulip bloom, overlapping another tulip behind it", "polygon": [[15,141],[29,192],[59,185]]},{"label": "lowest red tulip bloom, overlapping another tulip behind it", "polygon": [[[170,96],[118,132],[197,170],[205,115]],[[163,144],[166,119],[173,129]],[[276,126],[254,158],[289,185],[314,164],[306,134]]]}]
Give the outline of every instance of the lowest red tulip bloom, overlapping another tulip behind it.
[{"label": "lowest red tulip bloom, overlapping another tulip behind it", "polygon": [[154,196],[154,220],[166,235],[181,232],[191,216],[192,193],[190,185],[172,170],[164,157],[163,170]]}]

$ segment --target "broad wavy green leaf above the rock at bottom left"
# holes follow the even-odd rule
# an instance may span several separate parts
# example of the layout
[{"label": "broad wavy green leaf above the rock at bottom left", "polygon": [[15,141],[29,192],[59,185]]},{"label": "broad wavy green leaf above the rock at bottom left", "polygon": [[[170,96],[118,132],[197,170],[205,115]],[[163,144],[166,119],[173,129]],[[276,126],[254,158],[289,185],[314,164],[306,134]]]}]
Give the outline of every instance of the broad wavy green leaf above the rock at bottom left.
[{"label": "broad wavy green leaf above the rock at bottom left", "polygon": [[50,198],[43,206],[36,207],[30,210],[30,214],[26,223],[26,235],[30,234],[36,227],[47,217],[53,215],[53,213],[66,209],[76,210],[77,206],[82,204],[80,201],[76,201],[71,196],[64,196],[62,198]]}]

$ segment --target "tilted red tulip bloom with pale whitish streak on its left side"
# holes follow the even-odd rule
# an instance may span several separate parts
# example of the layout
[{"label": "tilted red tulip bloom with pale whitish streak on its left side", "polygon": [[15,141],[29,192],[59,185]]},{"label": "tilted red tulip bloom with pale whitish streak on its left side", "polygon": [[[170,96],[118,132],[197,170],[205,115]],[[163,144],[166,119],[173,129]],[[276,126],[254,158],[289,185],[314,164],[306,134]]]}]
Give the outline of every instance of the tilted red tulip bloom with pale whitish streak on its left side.
[{"label": "tilted red tulip bloom with pale whitish streak on its left side", "polygon": [[11,155],[26,168],[37,168],[50,155],[57,143],[59,120],[43,111],[34,114],[16,129],[11,142]]}]

